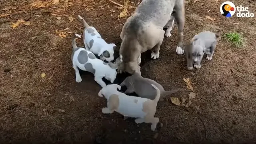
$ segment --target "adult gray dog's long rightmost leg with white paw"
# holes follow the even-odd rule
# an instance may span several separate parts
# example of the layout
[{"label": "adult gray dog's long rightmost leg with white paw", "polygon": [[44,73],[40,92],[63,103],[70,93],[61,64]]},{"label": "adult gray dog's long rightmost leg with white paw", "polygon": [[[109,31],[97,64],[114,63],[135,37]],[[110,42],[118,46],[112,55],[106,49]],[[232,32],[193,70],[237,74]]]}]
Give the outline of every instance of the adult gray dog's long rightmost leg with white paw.
[{"label": "adult gray dog's long rightmost leg with white paw", "polygon": [[178,24],[178,44],[176,48],[177,54],[183,54],[184,50],[182,49],[183,45],[183,29],[184,29],[184,23],[185,23],[185,10],[184,10],[184,1],[176,1],[176,5],[174,6],[175,9],[175,20]]}]

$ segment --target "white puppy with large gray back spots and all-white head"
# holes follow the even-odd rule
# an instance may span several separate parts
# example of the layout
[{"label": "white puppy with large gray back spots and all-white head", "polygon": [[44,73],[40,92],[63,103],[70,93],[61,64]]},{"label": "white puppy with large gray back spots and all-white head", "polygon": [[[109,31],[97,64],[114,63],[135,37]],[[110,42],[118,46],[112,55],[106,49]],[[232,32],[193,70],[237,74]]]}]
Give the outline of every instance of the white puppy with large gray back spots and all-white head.
[{"label": "white puppy with large gray back spots and all-white head", "polygon": [[[75,36],[81,38],[81,36],[78,34],[76,34]],[[96,56],[89,50],[86,50],[84,48],[78,48],[76,46],[75,36],[72,38],[73,52],[71,59],[73,63],[73,68],[76,72],[76,82],[82,81],[78,70],[78,68],[80,68],[81,70],[93,73],[94,80],[98,82],[98,84],[100,84],[102,88],[106,86],[105,82],[103,82],[102,80],[103,77],[113,83],[116,79],[116,70],[110,68],[110,66],[106,62],[97,59]]]}]

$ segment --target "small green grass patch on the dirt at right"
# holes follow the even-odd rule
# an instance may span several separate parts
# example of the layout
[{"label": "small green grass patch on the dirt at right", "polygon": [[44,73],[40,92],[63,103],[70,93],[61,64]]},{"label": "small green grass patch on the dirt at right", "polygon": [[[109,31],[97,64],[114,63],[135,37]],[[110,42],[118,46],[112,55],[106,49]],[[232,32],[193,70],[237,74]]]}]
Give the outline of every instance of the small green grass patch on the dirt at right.
[{"label": "small green grass patch on the dirt at right", "polygon": [[238,48],[244,44],[244,38],[242,37],[242,34],[237,32],[226,33],[224,34],[224,37]]}]

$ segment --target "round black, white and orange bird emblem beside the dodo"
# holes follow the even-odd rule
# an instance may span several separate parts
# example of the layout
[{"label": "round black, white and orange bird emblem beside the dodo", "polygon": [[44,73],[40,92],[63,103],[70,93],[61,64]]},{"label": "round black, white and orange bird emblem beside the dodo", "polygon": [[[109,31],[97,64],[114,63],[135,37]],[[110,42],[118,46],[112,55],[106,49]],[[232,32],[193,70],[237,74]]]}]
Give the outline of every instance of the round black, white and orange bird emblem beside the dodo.
[{"label": "round black, white and orange bird emblem beside the dodo", "polygon": [[229,1],[223,2],[220,5],[220,13],[223,16],[230,18],[231,16],[233,16],[236,13],[236,6],[232,2],[229,2]]}]

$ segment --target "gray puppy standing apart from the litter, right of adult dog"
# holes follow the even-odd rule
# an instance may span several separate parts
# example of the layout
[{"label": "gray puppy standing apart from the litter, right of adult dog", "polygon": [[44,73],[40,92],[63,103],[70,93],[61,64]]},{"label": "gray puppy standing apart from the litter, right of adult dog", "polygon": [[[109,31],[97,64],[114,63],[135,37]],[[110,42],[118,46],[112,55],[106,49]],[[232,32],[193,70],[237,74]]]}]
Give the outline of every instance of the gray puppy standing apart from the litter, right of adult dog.
[{"label": "gray puppy standing apart from the litter, right of adult dog", "polygon": [[207,60],[212,60],[219,38],[220,36],[218,34],[210,31],[200,32],[192,38],[185,50],[188,70],[193,69],[193,64],[194,68],[201,68],[201,60],[204,53],[207,54]]}]

